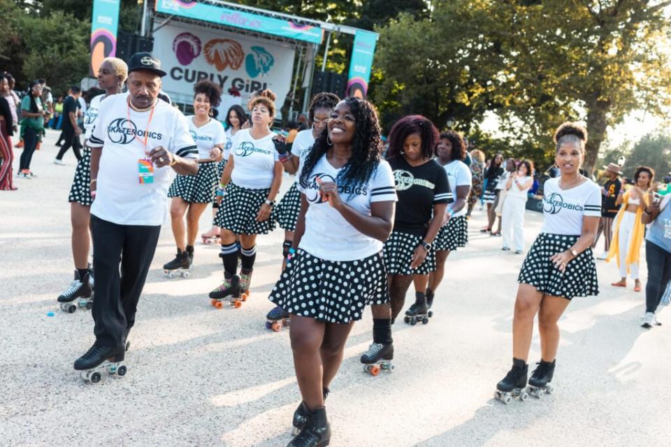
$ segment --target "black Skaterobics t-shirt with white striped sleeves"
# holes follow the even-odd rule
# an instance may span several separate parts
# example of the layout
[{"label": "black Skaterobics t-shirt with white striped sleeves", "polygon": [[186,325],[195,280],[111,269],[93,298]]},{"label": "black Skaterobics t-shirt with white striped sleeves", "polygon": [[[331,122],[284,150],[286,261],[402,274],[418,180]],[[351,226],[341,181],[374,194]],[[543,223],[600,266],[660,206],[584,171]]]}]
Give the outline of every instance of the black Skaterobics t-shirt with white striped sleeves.
[{"label": "black Skaterobics t-shirt with white striped sleeves", "polygon": [[396,184],[394,231],[424,236],[433,216],[433,205],[447,203],[447,174],[434,160],[410,166],[403,156],[389,160]]}]

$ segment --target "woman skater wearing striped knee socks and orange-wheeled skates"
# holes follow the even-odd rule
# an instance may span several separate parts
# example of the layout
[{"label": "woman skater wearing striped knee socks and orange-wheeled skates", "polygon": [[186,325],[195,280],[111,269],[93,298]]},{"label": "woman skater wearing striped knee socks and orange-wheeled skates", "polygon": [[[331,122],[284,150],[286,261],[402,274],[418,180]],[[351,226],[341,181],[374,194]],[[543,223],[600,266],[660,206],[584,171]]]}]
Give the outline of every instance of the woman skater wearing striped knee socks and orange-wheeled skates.
[{"label": "woman skater wearing striped knee socks and orange-wheeled skates", "polygon": [[[217,307],[221,307],[218,300],[226,297],[231,297],[231,304],[236,307],[240,307],[240,295],[243,301],[247,299],[257,257],[257,235],[275,229],[270,213],[282,184],[279,152],[284,147],[269,127],[275,119],[275,94],[261,91],[250,101],[250,108],[252,127],[233,137],[231,155],[217,189],[221,205],[215,225],[222,229],[219,256],[224,263],[224,281],[210,292],[212,305]],[[238,258],[242,264],[240,277]]]}]

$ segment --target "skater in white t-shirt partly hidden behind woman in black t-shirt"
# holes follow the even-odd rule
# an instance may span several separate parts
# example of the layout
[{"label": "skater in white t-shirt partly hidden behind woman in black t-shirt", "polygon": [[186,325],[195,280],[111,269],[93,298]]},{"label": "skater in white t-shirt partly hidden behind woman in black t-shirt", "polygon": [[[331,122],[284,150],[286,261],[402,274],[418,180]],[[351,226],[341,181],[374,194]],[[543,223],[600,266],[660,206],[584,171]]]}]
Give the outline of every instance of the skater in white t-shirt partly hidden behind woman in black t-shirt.
[{"label": "skater in white t-shirt partly hidden behind woman in black t-shirt", "polygon": [[[440,140],[435,147],[435,154],[440,164],[447,173],[447,184],[449,184],[449,205],[445,211],[445,222],[440,227],[438,235],[433,241],[435,250],[435,271],[428,275],[428,287],[426,288],[426,305],[433,305],[433,297],[436,289],[445,275],[445,262],[450,251],[468,244],[468,194],[472,173],[470,168],[462,160],[466,158],[466,142],[461,134],[455,131],[440,133]],[[417,289],[417,282],[415,282]]]}]

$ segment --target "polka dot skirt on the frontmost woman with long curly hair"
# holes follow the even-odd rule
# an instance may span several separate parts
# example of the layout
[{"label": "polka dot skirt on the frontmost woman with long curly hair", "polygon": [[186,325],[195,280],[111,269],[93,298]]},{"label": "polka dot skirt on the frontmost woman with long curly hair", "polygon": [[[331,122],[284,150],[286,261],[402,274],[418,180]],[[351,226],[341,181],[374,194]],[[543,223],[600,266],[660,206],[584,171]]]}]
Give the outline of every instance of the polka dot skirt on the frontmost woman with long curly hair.
[{"label": "polka dot skirt on the frontmost woman with long curly hair", "polygon": [[298,249],[268,300],[289,314],[349,323],[367,305],[389,302],[382,253],[358,261],[326,261]]}]

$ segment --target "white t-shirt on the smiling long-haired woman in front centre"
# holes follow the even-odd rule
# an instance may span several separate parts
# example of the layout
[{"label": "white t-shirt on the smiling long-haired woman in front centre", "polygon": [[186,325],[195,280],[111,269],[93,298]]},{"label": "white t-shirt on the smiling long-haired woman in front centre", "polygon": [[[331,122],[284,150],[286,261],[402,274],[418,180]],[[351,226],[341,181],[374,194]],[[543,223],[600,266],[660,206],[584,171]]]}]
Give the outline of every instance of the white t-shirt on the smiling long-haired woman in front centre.
[{"label": "white t-shirt on the smiling long-haired woman in front centre", "polygon": [[[333,168],[324,155],[312,169],[308,187],[303,188],[298,184],[298,190],[305,194],[310,204],[305,213],[305,233],[298,248],[326,261],[355,261],[382,250],[382,242],[360,233],[328,202],[322,202],[315,178],[333,182],[341,169]],[[300,177],[300,172],[297,177]],[[366,184],[356,188],[338,186],[338,193],[343,203],[370,216],[371,203],[397,200],[391,166],[387,161],[380,161],[380,166]]]}]

